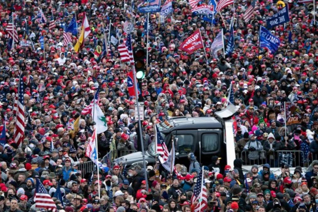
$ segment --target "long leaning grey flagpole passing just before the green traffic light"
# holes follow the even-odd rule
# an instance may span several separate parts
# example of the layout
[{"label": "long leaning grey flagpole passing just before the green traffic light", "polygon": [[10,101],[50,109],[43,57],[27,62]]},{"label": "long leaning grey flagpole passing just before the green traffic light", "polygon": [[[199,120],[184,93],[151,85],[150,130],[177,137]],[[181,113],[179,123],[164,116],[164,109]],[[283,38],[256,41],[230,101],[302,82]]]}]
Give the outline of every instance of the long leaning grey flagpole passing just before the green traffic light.
[{"label": "long leaning grey flagpole passing just before the green traffic light", "polygon": [[146,180],[146,191],[148,192],[149,186],[148,186],[148,177],[147,177],[147,167],[146,167],[146,160],[145,160],[145,149],[143,146],[143,138],[142,138],[142,125],[140,120],[140,112],[139,112],[139,104],[138,104],[138,90],[137,90],[137,78],[136,78],[136,70],[135,66],[131,66],[133,68],[133,74],[134,74],[134,90],[135,90],[135,96],[136,96],[136,104],[137,104],[137,116],[138,116],[138,129],[140,134],[140,143],[141,143],[141,150],[142,150],[142,162],[143,162],[143,170],[145,174],[145,180]]}]

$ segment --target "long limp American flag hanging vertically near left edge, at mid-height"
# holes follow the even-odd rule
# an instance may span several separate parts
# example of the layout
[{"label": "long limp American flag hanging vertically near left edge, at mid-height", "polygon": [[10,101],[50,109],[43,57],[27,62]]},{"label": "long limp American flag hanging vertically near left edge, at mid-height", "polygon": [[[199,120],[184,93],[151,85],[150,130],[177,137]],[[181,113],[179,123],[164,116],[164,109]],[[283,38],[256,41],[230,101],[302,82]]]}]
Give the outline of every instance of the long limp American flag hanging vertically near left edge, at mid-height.
[{"label": "long limp American flag hanging vertically near left edge, at mid-height", "polygon": [[17,117],[16,125],[14,127],[14,142],[20,147],[24,139],[24,87],[23,81],[20,77],[19,80],[19,92],[18,92],[18,101],[17,101]]}]

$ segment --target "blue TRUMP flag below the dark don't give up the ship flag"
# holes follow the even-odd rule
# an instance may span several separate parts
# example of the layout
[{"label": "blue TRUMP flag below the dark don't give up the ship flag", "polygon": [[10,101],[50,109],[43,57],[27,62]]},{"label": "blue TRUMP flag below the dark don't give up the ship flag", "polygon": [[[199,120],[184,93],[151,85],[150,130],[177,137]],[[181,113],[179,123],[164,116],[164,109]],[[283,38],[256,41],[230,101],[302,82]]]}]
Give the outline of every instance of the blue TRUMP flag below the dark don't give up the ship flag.
[{"label": "blue TRUMP flag below the dark don't give up the ship flag", "polygon": [[259,47],[268,49],[269,53],[277,51],[280,45],[280,39],[273,36],[265,27],[260,27]]}]

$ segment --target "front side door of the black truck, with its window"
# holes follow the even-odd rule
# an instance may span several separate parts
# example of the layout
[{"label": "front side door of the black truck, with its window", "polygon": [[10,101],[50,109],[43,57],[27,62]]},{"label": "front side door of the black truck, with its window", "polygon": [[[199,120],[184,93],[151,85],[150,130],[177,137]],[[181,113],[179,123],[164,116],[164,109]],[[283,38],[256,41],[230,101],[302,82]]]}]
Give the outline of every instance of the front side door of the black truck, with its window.
[{"label": "front side door of the black truck, with its window", "polygon": [[190,152],[196,151],[197,130],[177,130],[173,131],[172,134],[178,138],[175,147],[176,152],[179,153],[179,158],[188,157]]}]

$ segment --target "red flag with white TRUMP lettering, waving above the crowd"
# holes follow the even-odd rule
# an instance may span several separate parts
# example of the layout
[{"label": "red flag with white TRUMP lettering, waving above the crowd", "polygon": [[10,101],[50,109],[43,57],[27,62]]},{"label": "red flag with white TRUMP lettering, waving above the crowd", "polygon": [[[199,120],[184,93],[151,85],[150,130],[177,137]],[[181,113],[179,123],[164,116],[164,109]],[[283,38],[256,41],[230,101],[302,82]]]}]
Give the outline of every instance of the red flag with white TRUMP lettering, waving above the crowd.
[{"label": "red flag with white TRUMP lettering, waving above the crowd", "polygon": [[185,51],[189,54],[193,53],[197,49],[203,48],[202,37],[199,29],[193,32],[183,43],[180,45],[179,49]]}]

